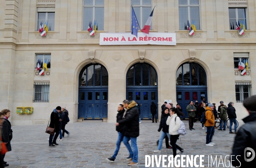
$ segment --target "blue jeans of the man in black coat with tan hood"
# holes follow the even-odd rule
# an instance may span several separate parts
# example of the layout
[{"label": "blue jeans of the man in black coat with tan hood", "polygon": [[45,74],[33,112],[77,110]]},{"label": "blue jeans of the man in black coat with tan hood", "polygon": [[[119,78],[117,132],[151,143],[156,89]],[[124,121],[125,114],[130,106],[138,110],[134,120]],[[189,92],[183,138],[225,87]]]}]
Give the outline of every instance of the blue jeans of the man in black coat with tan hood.
[{"label": "blue jeans of the man in black coat with tan hood", "polygon": [[132,157],[132,161],[134,163],[138,162],[138,147],[137,147],[137,137],[126,137],[124,136],[123,142],[125,144],[125,146],[128,148],[128,146],[130,146],[129,144],[129,140],[131,140],[131,148],[132,151],[130,153],[130,156]]}]

